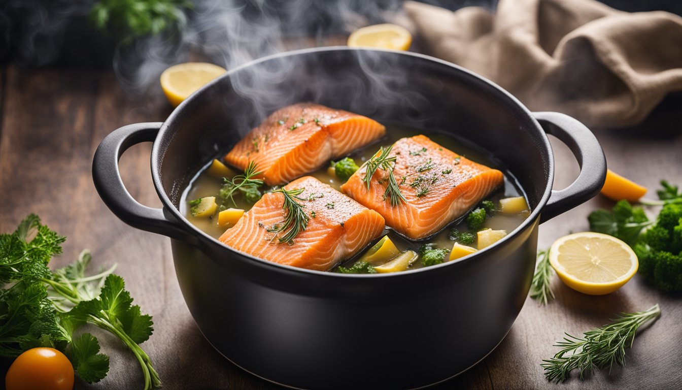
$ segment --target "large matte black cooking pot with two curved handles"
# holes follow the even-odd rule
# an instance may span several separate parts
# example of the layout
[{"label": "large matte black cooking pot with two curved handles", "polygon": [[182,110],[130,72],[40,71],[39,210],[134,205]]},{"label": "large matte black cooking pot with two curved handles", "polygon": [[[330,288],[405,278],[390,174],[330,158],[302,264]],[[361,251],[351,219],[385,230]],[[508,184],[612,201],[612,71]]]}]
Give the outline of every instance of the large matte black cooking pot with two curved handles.
[{"label": "large matte black cooking pot with two curved handles", "polygon": [[[474,255],[374,275],[260,260],[183,217],[181,195],[201,167],[271,111],[302,101],[476,145],[516,178],[533,212]],[[561,191],[552,191],[546,133],[565,142],[582,167]],[[135,201],[119,175],[123,151],[143,141],[153,142],[151,173],[161,209]],[[171,238],[183,296],[213,347],[256,376],[300,389],[413,389],[484,359],[528,294],[537,226],[593,197],[605,175],[602,148],[571,117],[531,113],[497,85],[446,61],[346,47],[282,53],[232,70],[166,122],[115,130],[93,161],[95,186],[121,220]]]}]

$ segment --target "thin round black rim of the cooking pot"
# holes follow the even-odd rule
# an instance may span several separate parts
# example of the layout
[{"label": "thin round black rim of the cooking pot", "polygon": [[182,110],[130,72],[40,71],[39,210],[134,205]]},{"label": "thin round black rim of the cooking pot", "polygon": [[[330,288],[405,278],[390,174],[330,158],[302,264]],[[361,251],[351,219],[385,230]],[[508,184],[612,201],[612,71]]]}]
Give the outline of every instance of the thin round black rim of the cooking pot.
[{"label": "thin round black rim of the cooking pot", "polygon": [[[428,266],[428,267],[423,267],[423,268],[417,268],[413,270],[406,270],[398,273],[376,273],[376,274],[346,274],[346,273],[333,273],[329,271],[320,271],[320,270],[310,270],[308,268],[299,268],[295,266],[289,266],[286,264],[279,264],[276,262],[270,262],[268,260],[264,260],[258,257],[255,257],[253,255],[250,255],[249,253],[245,253],[242,251],[239,251],[237,249],[233,249],[231,247],[228,247],[224,243],[220,242],[216,238],[213,238],[209,234],[203,232],[203,230],[199,229],[195,225],[193,225],[188,219],[186,219],[181,212],[179,211],[178,208],[173,205],[173,202],[170,201],[170,198],[166,194],[166,191],[164,191],[163,184],[161,182],[161,177],[160,177],[160,165],[159,162],[160,160],[160,145],[162,143],[158,142],[159,139],[163,139],[166,137],[171,137],[172,141],[172,136],[173,133],[170,133],[170,123],[172,123],[176,117],[181,115],[181,111],[183,109],[190,105],[193,100],[197,98],[197,96],[205,93],[208,89],[211,89],[213,85],[216,85],[218,83],[222,83],[223,79],[229,78],[232,74],[239,72],[243,68],[248,68],[249,66],[255,66],[256,64],[261,64],[262,62],[270,61],[271,59],[276,59],[276,58],[283,58],[283,57],[294,57],[297,55],[304,55],[304,54],[309,54],[309,53],[322,53],[322,52],[327,52],[327,51],[349,51],[349,52],[362,52],[362,51],[379,51],[379,52],[385,52],[385,53],[391,53],[395,55],[405,55],[407,57],[413,57],[419,60],[426,60],[426,61],[432,61],[437,64],[441,64],[442,66],[447,66],[448,68],[452,68],[456,70],[456,72],[460,72],[463,74],[466,74],[466,76],[473,77],[475,79],[478,79],[479,81],[482,81],[494,89],[500,94],[502,98],[506,98],[509,100],[509,102],[513,103],[516,107],[520,109],[520,111],[523,113],[523,115],[526,116],[527,120],[529,120],[529,123],[533,124],[535,126],[535,129],[540,135],[540,139],[542,139],[543,145],[547,150],[548,154],[548,161],[547,161],[547,167],[548,167],[548,179],[547,182],[545,183],[545,191],[542,194],[542,197],[539,199],[537,206],[535,207],[534,210],[531,211],[531,214],[520,224],[518,225],[514,230],[509,232],[507,236],[504,236],[501,238],[499,241],[495,242],[493,245],[490,245],[489,247],[486,247],[484,249],[480,249],[479,251],[476,251],[475,253],[472,253],[471,255],[466,255],[464,257],[460,257],[459,259],[456,260],[451,260],[449,262],[443,262],[441,264],[436,264],[434,266]],[[226,251],[231,251],[235,253],[239,253],[240,255],[243,255],[244,257],[247,257],[249,261],[251,260],[256,260],[256,262],[260,263],[261,266],[266,266],[268,268],[276,268],[276,270],[288,270],[288,271],[295,271],[297,273],[307,273],[310,275],[316,275],[317,277],[345,277],[345,278],[387,278],[387,277],[409,277],[410,275],[417,275],[419,273],[429,273],[429,272],[439,272],[440,268],[447,267],[447,266],[457,266],[456,264],[466,264],[468,262],[472,262],[477,260],[478,257],[481,257],[485,255],[489,251],[493,251],[497,247],[500,247],[501,245],[504,245],[505,242],[511,240],[512,238],[515,238],[518,236],[521,232],[523,232],[525,229],[529,228],[529,226],[537,219],[539,219],[540,216],[540,211],[544,206],[547,204],[550,195],[552,194],[552,184],[554,182],[554,154],[552,152],[552,147],[550,145],[549,138],[547,137],[547,134],[545,131],[542,129],[542,126],[540,126],[539,122],[533,117],[531,114],[531,111],[523,105],[520,100],[518,100],[514,95],[510,94],[507,92],[507,90],[503,89],[496,83],[486,79],[484,76],[481,76],[475,72],[472,72],[471,70],[468,70],[466,68],[462,68],[462,66],[458,66],[456,64],[453,64],[449,61],[445,61],[443,59],[439,59],[436,57],[431,57],[430,55],[424,55],[421,53],[413,53],[409,51],[398,51],[398,50],[391,50],[391,49],[382,49],[382,48],[353,48],[349,46],[324,46],[324,47],[314,47],[314,48],[303,48],[299,50],[294,50],[294,51],[285,51],[282,53],[276,53],[273,55],[268,55],[266,57],[261,57],[259,59],[254,59],[253,61],[250,61],[246,64],[243,64],[241,66],[237,66],[237,68],[234,68],[232,70],[228,70],[225,74],[222,76],[213,79],[213,81],[210,81],[207,83],[207,85],[204,85],[200,89],[198,89],[194,94],[189,96],[186,100],[183,100],[183,102],[176,107],[170,115],[166,118],[166,120],[163,122],[159,133],[154,140],[152,144],[152,149],[151,149],[151,176],[153,180],[153,184],[155,186],[156,192],[159,196],[159,198],[162,201],[162,204],[164,205],[164,208],[168,210],[173,216],[177,219],[179,223],[181,223],[187,230],[188,232],[191,232],[194,236],[197,236],[199,240],[209,240],[213,244],[220,245],[222,246]],[[184,189],[183,189],[184,191]],[[524,196],[526,195],[526,191],[524,190]],[[211,257],[211,260],[213,261],[218,261]],[[242,259],[239,259],[239,261],[243,261]]]}]

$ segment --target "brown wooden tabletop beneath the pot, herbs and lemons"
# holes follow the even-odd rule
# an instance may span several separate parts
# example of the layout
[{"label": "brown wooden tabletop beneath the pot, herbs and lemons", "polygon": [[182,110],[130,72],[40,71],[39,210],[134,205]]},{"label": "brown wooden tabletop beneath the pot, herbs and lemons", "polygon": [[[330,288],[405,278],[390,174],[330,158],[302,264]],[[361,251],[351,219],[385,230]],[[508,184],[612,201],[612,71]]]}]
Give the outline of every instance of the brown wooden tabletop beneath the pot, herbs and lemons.
[{"label": "brown wooden tabletop beneath the pot, herbs and lemons", "polygon": [[[205,341],[183,301],[175,279],[168,238],[125,225],[104,206],[91,179],[93,152],[104,136],[134,122],[163,121],[171,109],[159,89],[132,99],[110,72],[1,68],[0,78],[0,232],[11,232],[31,212],[68,237],[53,266],[72,262],[81,249],[93,254],[93,270],[118,263],[117,273],[143,311],[154,333],[143,344],[164,389],[277,389],[226,361]],[[632,129],[595,131],[609,167],[651,189],[660,178],[682,184],[682,99],[665,100],[652,117]],[[557,158],[555,188],[577,176],[567,148],[553,142]],[[151,144],[123,155],[121,172],[132,195],[160,206],[151,184]],[[612,202],[596,197],[540,228],[539,246],[569,232],[588,229],[587,214]],[[491,287],[492,288],[492,287]],[[530,298],[509,335],[484,361],[435,389],[673,389],[682,383],[682,304],[635,276],[621,290],[587,296],[554,279],[557,299],[539,307]],[[580,382],[549,384],[539,366],[551,357],[563,332],[579,335],[608,322],[620,311],[659,303],[662,316],[638,335],[627,351],[627,367],[598,372]],[[141,389],[138,363],[117,339],[89,329],[111,357],[102,382],[77,389]],[[369,342],[369,341],[368,341]],[[413,366],[413,362],[405,362]],[[358,365],[364,364],[359,361]],[[8,362],[3,367],[6,370]],[[4,372],[4,371],[3,371]]]}]

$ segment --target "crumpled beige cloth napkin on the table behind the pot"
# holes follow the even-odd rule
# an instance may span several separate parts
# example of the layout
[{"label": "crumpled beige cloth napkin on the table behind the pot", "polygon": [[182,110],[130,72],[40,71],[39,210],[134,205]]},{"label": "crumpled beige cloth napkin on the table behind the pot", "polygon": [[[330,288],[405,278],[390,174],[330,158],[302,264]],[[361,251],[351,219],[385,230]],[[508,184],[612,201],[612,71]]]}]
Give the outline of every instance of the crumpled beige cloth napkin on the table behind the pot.
[{"label": "crumpled beige cloth napkin on the table behind the pot", "polygon": [[630,126],[682,89],[682,18],[668,12],[593,0],[501,0],[494,14],[408,1],[404,10],[427,53],[486,76],[534,111]]}]

